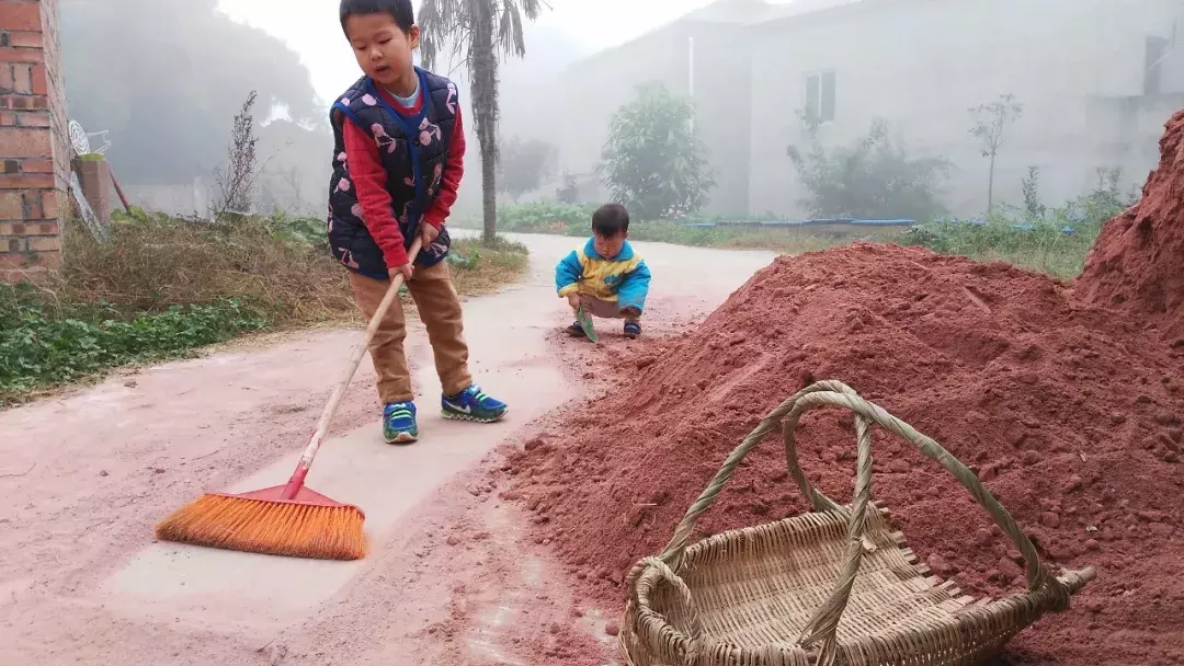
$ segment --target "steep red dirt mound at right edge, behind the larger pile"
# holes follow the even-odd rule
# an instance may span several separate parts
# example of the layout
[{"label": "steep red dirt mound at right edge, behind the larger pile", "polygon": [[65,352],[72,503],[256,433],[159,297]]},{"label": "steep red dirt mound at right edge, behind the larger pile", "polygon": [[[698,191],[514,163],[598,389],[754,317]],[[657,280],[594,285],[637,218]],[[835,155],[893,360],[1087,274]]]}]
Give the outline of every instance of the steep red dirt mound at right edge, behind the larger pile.
[{"label": "steep red dirt mound at right edge, behind the larger pile", "polygon": [[1106,224],[1075,286],[1184,348],[1184,111],[1167,123],[1159,154],[1143,200]]}]

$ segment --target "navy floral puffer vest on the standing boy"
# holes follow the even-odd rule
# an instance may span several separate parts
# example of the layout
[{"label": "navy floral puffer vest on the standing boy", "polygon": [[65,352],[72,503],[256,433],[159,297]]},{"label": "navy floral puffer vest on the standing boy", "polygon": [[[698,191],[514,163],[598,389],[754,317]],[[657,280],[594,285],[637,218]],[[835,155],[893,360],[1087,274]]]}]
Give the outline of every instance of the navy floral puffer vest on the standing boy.
[{"label": "navy floral puffer vest on the standing boy", "polygon": [[[348,269],[384,279],[387,277],[382,251],[362,221],[361,206],[349,177],[343,127],[352,122],[378,144],[386,169],[394,218],[399,220],[404,245],[410,248],[419,232],[420,218],[439,192],[444,163],[456,129],[456,84],[416,67],[424,101],[419,114],[400,115],[378,93],[369,77],[360,78],[329,111],[333,124],[333,176],[329,180],[329,246],[333,256]],[[416,259],[431,266],[448,256],[446,229]]]}]

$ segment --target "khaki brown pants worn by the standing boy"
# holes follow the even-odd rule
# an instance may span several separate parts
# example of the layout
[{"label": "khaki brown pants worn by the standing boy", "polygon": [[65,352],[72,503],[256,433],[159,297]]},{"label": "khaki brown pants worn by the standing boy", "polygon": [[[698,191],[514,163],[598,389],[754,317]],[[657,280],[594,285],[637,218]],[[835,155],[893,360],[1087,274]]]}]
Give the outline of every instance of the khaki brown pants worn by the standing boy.
[{"label": "khaki brown pants worn by the standing boy", "polygon": [[[391,280],[377,280],[350,271],[349,286],[354,290],[358,309],[368,322],[386,296]],[[416,266],[416,272],[407,280],[407,291],[416,302],[419,318],[427,328],[427,340],[436,356],[436,374],[439,375],[444,394],[456,395],[469,388],[472,383],[469,374],[469,345],[464,342],[461,298],[452,287],[448,264],[440,261],[429,269]],[[387,309],[369,344],[371,360],[378,374],[378,394],[384,405],[408,402],[414,397],[407,355],[403,350],[406,337],[407,323],[403,304],[397,300]]]}]

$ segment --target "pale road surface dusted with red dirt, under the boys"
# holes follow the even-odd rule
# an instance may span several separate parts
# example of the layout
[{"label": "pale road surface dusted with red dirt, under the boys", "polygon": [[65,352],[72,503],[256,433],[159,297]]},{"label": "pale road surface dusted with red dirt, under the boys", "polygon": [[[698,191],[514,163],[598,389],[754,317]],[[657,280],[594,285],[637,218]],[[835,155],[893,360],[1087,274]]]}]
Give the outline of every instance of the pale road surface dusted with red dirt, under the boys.
[{"label": "pale road surface dusted with red dirt, under the boys", "polygon": [[[0,413],[0,664],[612,662],[611,619],[572,597],[545,545],[523,543],[522,517],[481,470],[593,390],[580,343],[554,334],[570,313],[553,266],[579,240],[519,240],[529,277],[465,304],[474,370],[510,403],[504,422],[436,415],[418,330],[420,444],[381,442],[368,361],[347,393],[309,486],[366,511],[360,562],[152,541],[156,520],[204,491],[287,479],[359,331],[252,341]],[[772,259],[637,246],[655,274],[648,335],[709,312]]]}]

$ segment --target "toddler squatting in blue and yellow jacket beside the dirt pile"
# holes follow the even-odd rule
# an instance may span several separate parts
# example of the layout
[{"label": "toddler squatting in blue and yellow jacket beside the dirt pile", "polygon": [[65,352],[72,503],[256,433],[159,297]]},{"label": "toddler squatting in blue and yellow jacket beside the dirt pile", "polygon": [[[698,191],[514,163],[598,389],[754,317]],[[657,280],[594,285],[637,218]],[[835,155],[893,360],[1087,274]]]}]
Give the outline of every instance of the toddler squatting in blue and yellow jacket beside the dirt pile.
[{"label": "toddler squatting in blue and yellow jacket beside the dirt pile", "polygon": [[[642,335],[642,311],[650,291],[650,269],[629,244],[629,211],[606,203],[592,214],[592,238],[555,267],[555,290],[572,310],[624,319],[628,338]],[[577,321],[567,332],[584,337]]]}]

